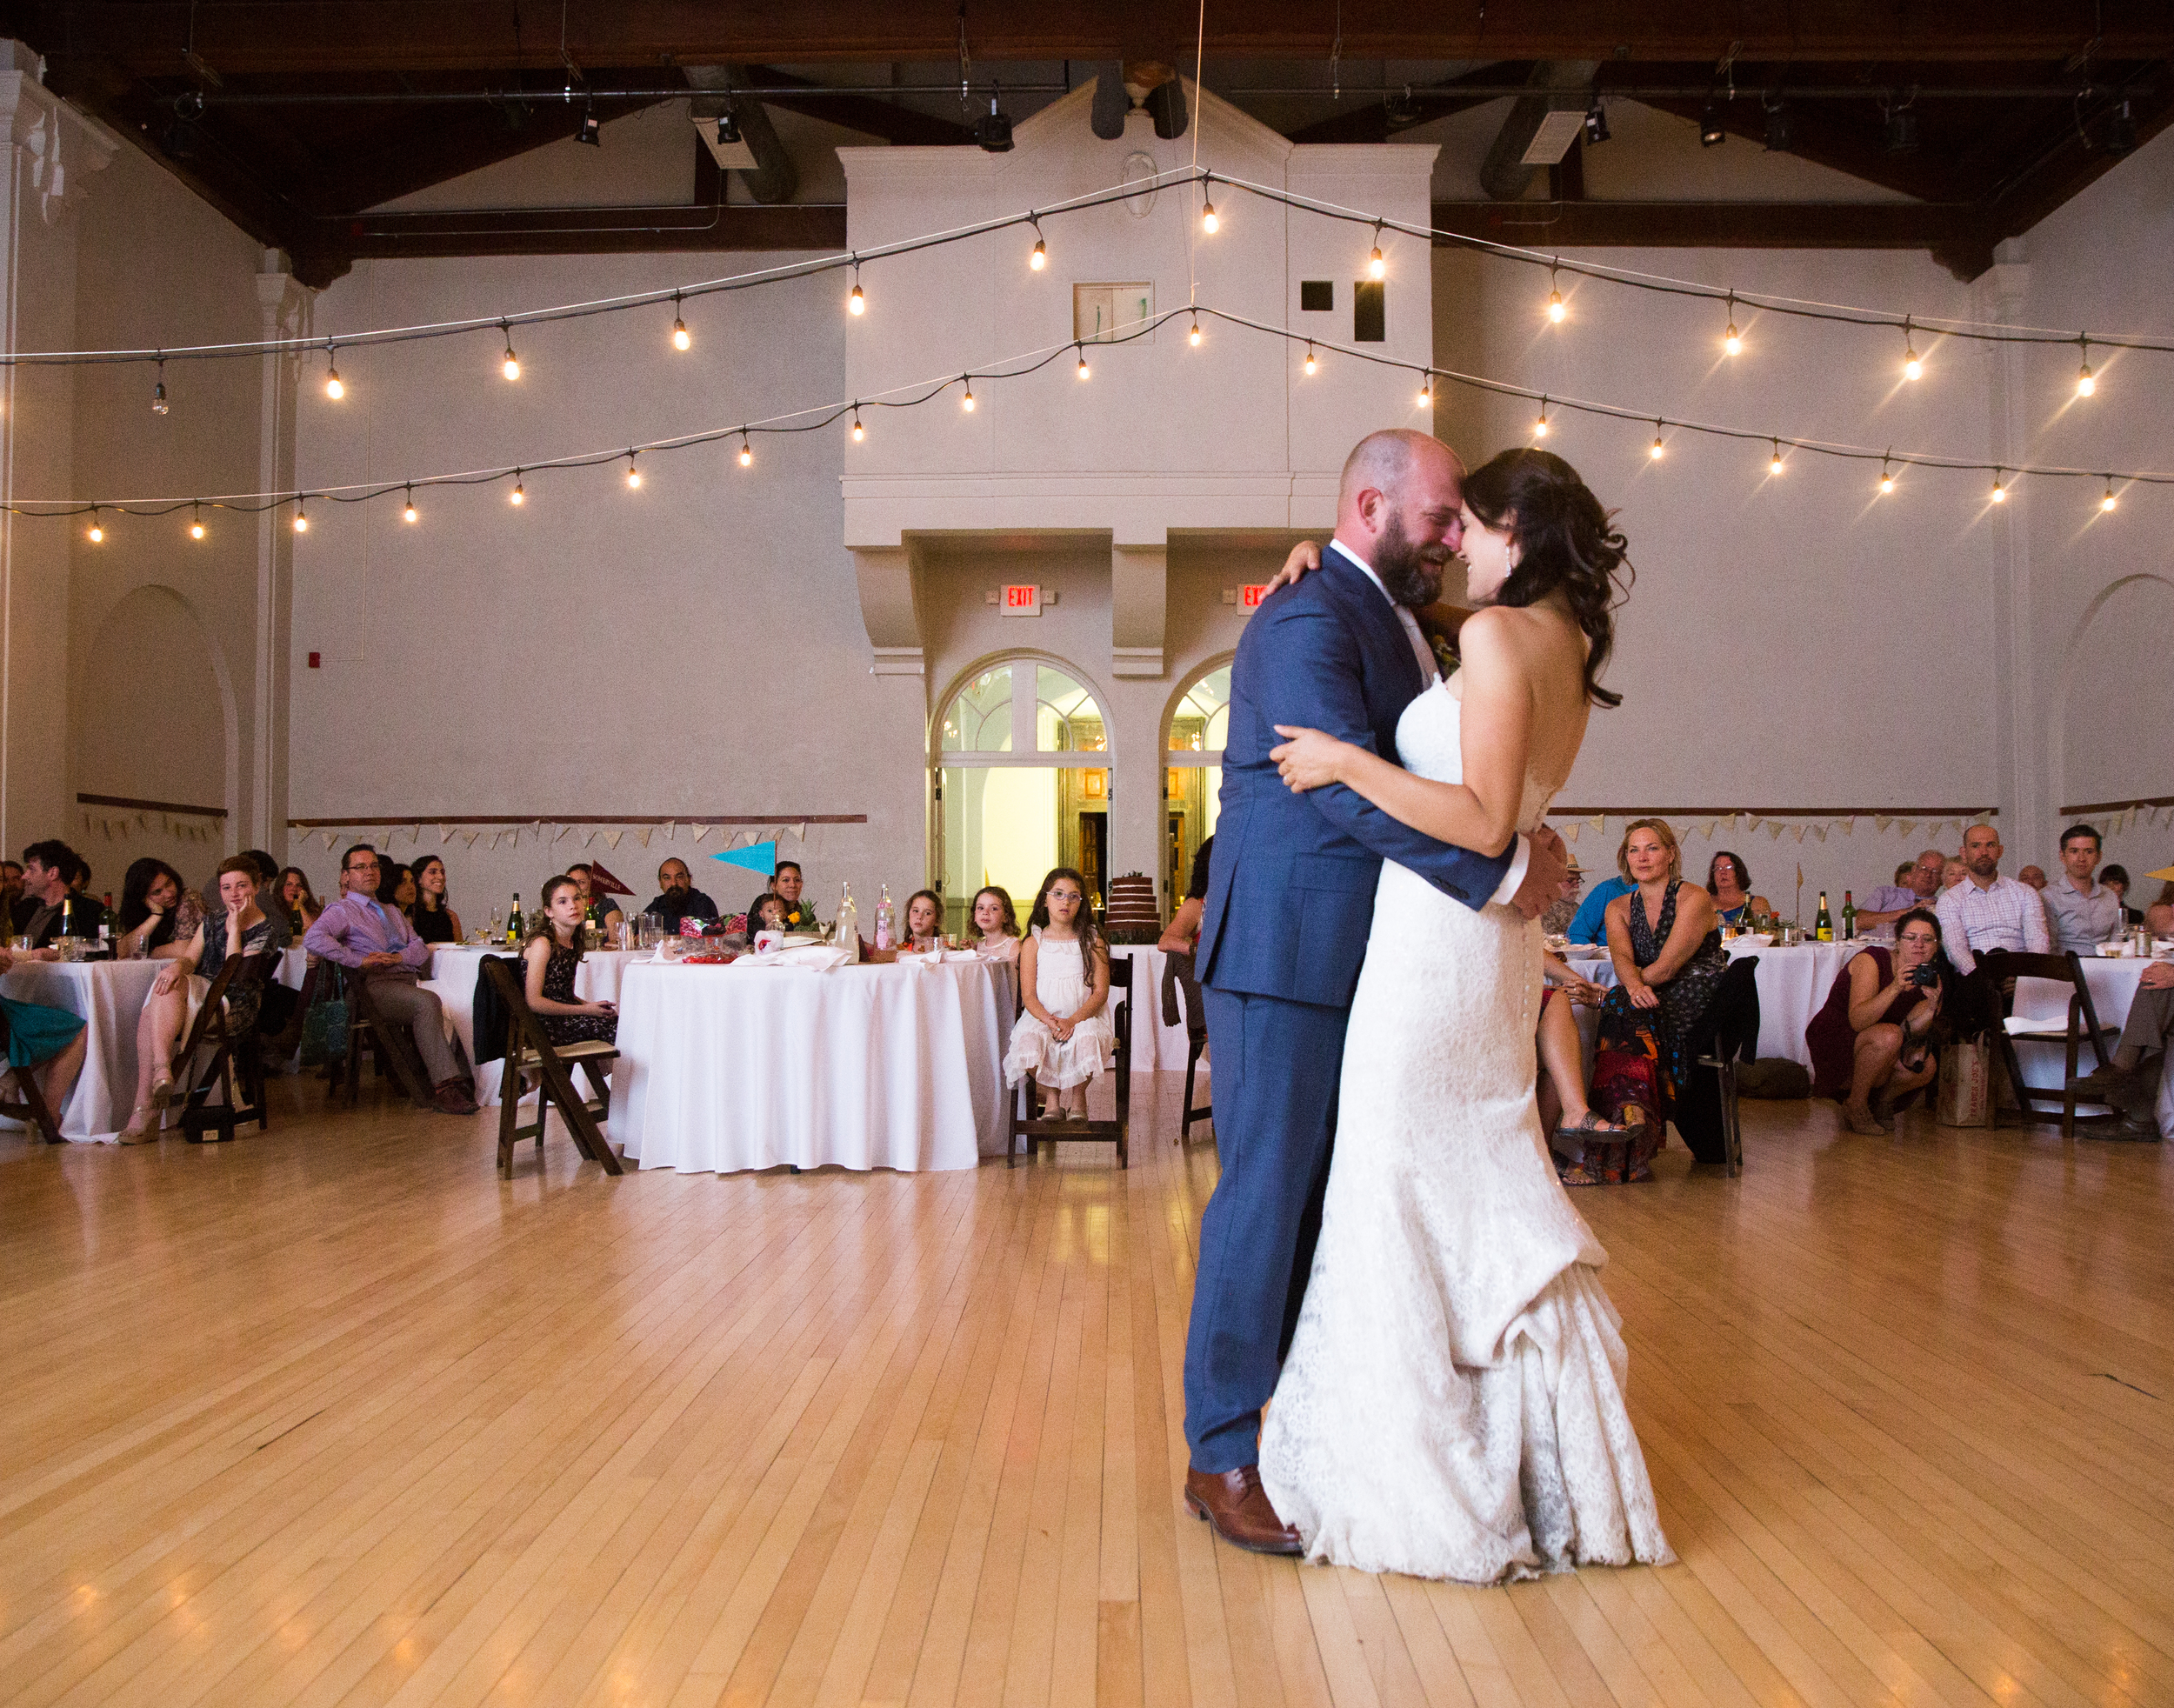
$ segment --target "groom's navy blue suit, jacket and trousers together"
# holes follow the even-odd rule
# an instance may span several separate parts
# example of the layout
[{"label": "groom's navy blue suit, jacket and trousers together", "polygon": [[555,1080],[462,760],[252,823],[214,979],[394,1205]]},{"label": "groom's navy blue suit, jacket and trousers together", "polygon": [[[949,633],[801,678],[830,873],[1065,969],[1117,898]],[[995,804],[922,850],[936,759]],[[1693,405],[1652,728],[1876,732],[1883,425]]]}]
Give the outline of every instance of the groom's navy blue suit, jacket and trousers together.
[{"label": "groom's navy blue suit, jacket and trousers together", "polygon": [[1259,1460],[1261,1406],[1298,1321],[1328,1180],[1344,1023],[1391,858],[1467,906],[1511,867],[1398,824],[1350,789],[1294,795],[1267,750],[1276,724],[1396,756],[1396,719],[1426,680],[1396,606],[1330,545],[1320,574],[1274,593],[1230,667],[1222,815],[1196,963],[1215,1060],[1222,1180],[1200,1219],[1185,1343],[1194,1469]]}]

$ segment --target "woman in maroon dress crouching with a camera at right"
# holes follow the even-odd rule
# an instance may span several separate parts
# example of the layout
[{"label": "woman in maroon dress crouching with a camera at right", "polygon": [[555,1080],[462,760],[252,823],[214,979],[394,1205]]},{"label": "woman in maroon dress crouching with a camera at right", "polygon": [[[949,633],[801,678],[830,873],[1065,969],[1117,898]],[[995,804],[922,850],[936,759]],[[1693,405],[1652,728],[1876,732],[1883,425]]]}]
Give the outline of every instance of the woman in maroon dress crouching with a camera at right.
[{"label": "woman in maroon dress crouching with a camera at right", "polygon": [[1946,995],[1939,978],[1939,919],[1911,908],[1896,945],[1850,956],[1804,1028],[1815,1097],[1833,1097],[1850,1132],[1894,1132],[1891,1110],[1939,1076],[1933,1023]]}]

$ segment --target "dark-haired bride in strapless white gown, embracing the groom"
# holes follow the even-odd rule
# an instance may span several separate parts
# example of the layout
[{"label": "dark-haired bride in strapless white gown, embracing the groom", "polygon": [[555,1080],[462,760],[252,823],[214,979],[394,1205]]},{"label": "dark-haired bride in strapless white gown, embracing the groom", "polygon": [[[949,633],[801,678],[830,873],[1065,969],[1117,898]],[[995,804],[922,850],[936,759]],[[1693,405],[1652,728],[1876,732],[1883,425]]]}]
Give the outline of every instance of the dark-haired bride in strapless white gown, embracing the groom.
[{"label": "dark-haired bride in strapless white gown, embracing the groom", "polygon": [[[1461,847],[1533,830],[1567,780],[1613,641],[1624,537],[1561,456],[1463,482],[1463,667],[1396,732],[1402,769],[1278,726],[1291,789],[1341,782]],[[1541,932],[1396,863],[1344,1047],[1304,1306],[1261,1480],[1307,1556],[1491,1584],[1670,1560],[1624,1408],[1607,1252],[1557,1182],[1535,1104]]]}]

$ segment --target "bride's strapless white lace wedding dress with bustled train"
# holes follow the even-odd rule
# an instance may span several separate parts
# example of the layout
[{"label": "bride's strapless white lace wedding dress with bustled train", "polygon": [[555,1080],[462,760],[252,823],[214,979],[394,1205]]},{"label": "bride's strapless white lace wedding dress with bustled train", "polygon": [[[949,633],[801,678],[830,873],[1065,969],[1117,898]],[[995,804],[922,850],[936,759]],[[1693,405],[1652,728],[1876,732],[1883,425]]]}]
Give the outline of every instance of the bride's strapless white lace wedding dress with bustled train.
[{"label": "bride's strapless white lace wedding dress with bustled train", "polygon": [[[1398,721],[1459,782],[1454,678]],[[1530,776],[1520,824],[1552,791]],[[1670,1560],[1624,1408],[1607,1252],[1554,1178],[1533,1097],[1541,932],[1396,863],[1344,1045],[1322,1236],[1261,1430],[1307,1556],[1491,1584]]]}]

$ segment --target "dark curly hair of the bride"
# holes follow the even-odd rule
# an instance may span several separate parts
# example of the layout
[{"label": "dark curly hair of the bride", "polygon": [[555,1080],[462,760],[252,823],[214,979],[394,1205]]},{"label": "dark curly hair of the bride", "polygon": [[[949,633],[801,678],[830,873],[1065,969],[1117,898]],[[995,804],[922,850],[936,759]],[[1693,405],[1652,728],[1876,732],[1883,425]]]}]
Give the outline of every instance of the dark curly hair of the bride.
[{"label": "dark curly hair of the bride", "polygon": [[1624,698],[1600,687],[1600,671],[1615,648],[1613,611],[1637,572],[1628,541],[1611,526],[1600,500],[1561,456],[1520,445],[1465,476],[1465,504],[1489,528],[1507,530],[1517,541],[1517,567],[1502,582],[1496,604],[1539,604],[1561,589],[1570,615],[1585,630],[1585,693],[1596,706],[1620,706]]}]

